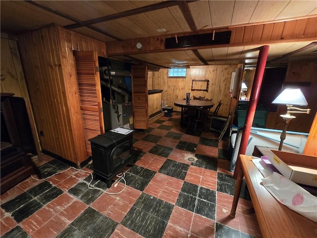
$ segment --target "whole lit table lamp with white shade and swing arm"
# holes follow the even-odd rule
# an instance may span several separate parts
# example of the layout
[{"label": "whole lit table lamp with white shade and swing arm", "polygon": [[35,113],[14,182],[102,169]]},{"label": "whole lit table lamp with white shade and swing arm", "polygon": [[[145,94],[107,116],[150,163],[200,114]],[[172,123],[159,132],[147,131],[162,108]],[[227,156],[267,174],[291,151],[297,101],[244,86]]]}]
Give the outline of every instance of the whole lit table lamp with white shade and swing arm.
[{"label": "whole lit table lamp with white shade and swing arm", "polygon": [[[291,114],[293,113],[305,113],[305,114],[310,114],[311,110],[310,109],[301,109],[301,108],[295,108],[295,106],[307,106],[308,103],[306,101],[306,98],[304,94],[302,93],[302,90],[299,88],[286,88],[284,89],[272,102],[272,104],[281,104],[281,105],[286,105],[287,107],[287,113],[284,115],[279,115],[283,120],[284,120],[284,126],[283,126],[283,131],[280,136],[280,143],[278,150],[282,149],[283,146],[283,141],[286,138],[286,128],[291,119],[296,118],[295,116],[292,116]],[[296,111],[291,111],[291,110],[296,110]]]}]

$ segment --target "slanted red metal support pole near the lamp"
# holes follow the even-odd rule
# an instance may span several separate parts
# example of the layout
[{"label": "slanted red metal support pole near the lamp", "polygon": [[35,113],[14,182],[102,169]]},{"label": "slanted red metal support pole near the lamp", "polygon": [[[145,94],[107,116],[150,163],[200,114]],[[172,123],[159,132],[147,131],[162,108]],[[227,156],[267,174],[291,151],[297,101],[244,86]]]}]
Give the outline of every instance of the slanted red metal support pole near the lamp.
[{"label": "slanted red metal support pole near the lamp", "polygon": [[[246,115],[244,128],[243,128],[243,132],[242,132],[242,137],[241,137],[241,143],[240,143],[240,147],[239,147],[239,153],[238,153],[239,155],[245,154],[246,150],[247,150],[250,131],[251,131],[254,115],[256,113],[257,104],[259,101],[259,94],[260,94],[265,64],[266,64],[266,60],[267,60],[268,49],[269,49],[269,46],[262,46],[260,48],[259,58],[258,58],[257,67],[256,67],[256,73],[254,75],[249,106],[248,106],[248,110],[247,110],[247,115]],[[234,174],[233,174],[234,179],[237,179],[237,177],[238,177],[238,174],[237,174],[238,172],[236,173],[236,171],[240,170],[240,166],[241,165],[240,165],[240,160],[239,160],[239,156],[238,156],[237,162],[236,162],[236,167],[235,167]]]}]

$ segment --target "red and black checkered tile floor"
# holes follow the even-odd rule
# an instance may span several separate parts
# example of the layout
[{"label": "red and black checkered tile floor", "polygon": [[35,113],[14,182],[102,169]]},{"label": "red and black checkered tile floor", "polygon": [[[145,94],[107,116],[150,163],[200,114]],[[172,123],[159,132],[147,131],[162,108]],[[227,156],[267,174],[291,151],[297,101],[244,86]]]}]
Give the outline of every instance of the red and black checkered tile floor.
[{"label": "red and black checkered tile floor", "polygon": [[[88,188],[84,171],[44,155],[34,163],[44,181],[28,178],[1,198],[1,238],[246,238],[261,237],[244,189],[235,219],[229,217],[235,180],[229,172],[228,141],[217,133],[186,130],[180,115],[136,130],[137,162],[125,168],[126,187],[109,195]],[[92,184],[107,192],[99,179]]]}]

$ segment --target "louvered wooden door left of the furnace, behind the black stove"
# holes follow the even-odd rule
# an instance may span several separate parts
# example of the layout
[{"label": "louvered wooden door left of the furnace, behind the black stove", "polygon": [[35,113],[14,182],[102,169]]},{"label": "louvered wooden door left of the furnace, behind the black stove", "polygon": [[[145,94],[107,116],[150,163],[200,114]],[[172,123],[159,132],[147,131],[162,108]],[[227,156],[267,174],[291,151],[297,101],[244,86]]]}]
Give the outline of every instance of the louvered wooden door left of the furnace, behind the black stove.
[{"label": "louvered wooden door left of the furnace, behind the black stove", "polygon": [[105,133],[98,55],[94,51],[73,53],[87,155],[92,156],[88,140]]}]

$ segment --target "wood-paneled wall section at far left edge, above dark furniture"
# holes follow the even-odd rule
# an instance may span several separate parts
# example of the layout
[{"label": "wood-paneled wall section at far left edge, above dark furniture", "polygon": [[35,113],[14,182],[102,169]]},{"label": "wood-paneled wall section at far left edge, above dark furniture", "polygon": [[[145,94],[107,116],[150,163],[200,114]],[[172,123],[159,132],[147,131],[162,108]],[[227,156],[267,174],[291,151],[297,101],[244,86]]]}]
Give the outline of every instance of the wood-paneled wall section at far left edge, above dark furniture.
[{"label": "wood-paneled wall section at far left edge, above dark furniture", "polygon": [[1,92],[14,93],[15,97],[29,99],[17,37],[1,32]]}]

